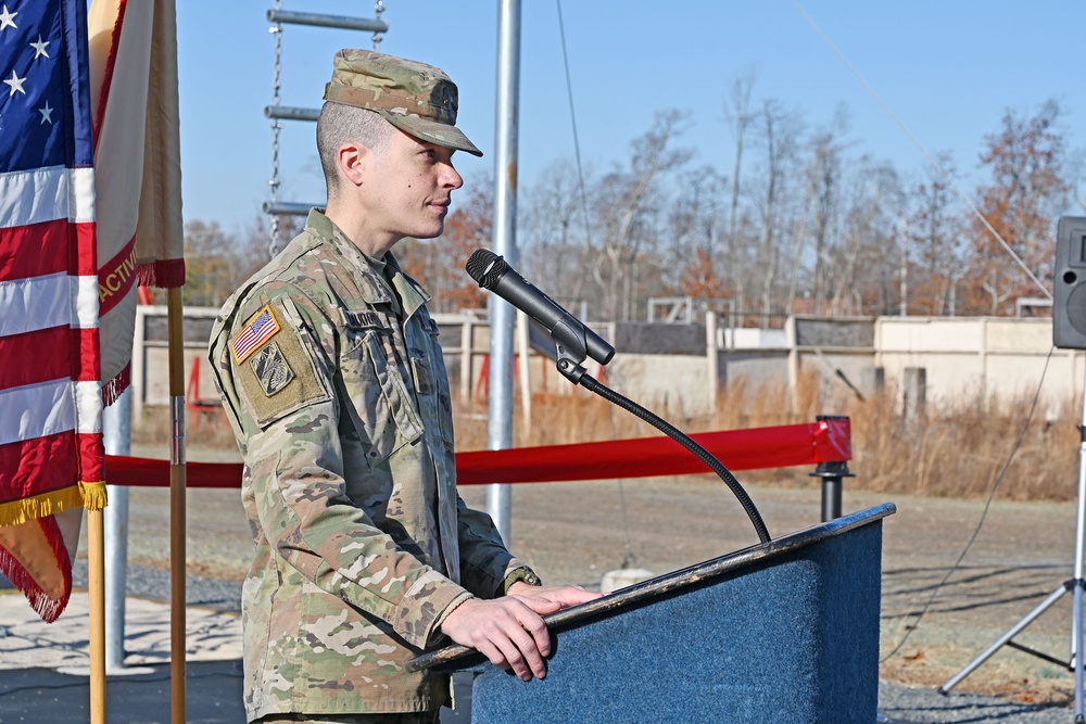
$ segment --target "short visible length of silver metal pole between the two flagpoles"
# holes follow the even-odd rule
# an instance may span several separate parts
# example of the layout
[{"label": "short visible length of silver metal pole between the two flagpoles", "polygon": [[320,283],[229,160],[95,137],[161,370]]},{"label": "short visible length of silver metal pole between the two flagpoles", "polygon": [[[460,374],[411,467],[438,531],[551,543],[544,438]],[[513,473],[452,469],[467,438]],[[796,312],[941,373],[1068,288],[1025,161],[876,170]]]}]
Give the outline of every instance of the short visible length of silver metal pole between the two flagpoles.
[{"label": "short visible length of silver metal pole between the two flagpoles", "polygon": [[[106,455],[131,452],[131,388],[105,408],[102,439]],[[105,670],[125,665],[125,581],[128,572],[128,488],[106,485],[110,505],[105,525]]]}]

